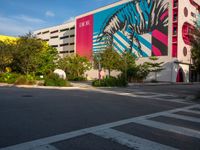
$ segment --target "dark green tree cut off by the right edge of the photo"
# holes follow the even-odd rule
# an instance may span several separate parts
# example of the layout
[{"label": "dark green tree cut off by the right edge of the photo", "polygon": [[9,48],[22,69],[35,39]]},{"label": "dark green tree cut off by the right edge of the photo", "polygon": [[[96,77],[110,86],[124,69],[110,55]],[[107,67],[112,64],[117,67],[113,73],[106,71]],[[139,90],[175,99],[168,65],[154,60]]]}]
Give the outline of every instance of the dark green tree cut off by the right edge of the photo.
[{"label": "dark green tree cut off by the right edge of the photo", "polygon": [[191,57],[193,60],[193,65],[197,72],[200,72],[200,25],[195,23],[195,27],[192,32],[191,39]]}]

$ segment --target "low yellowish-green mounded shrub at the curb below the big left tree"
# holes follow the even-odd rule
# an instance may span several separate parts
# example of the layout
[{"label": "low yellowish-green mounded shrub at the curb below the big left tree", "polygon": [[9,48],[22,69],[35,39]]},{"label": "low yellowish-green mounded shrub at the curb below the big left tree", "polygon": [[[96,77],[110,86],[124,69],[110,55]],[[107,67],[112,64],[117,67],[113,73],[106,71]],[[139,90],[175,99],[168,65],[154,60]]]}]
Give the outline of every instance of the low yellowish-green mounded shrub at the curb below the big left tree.
[{"label": "low yellowish-green mounded shrub at the curb below the big left tree", "polygon": [[35,83],[35,78],[32,75],[21,75],[15,81],[16,85],[34,85]]}]

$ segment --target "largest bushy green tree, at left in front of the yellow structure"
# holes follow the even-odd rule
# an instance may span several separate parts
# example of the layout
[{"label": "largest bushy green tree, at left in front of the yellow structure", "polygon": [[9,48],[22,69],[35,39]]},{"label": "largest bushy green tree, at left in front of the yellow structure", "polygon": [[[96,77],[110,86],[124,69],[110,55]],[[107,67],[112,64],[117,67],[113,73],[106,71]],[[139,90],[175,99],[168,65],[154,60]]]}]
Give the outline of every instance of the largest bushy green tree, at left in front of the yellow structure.
[{"label": "largest bushy green tree, at left in front of the yellow structure", "polygon": [[55,68],[57,50],[27,34],[17,39],[12,68],[22,74],[46,74]]}]

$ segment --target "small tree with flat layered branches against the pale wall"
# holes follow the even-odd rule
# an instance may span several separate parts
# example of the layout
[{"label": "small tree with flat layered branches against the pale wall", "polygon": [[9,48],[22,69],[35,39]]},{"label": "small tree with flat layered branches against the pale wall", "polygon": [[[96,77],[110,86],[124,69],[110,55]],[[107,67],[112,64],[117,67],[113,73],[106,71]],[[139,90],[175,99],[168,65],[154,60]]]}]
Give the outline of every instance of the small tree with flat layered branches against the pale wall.
[{"label": "small tree with flat layered branches against the pale wall", "polygon": [[150,62],[146,62],[146,65],[148,66],[150,72],[155,73],[155,81],[157,81],[157,73],[164,70],[162,67],[164,62],[157,62],[159,58],[155,56],[149,57],[149,59]]}]

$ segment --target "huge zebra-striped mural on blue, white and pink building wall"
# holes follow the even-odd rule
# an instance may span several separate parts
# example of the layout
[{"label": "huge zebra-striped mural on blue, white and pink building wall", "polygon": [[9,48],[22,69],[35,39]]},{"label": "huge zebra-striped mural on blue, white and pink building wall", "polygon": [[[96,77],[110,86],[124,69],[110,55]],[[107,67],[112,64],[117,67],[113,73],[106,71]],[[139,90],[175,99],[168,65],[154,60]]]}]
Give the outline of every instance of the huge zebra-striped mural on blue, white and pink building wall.
[{"label": "huge zebra-striped mural on blue, white and pink building wall", "polygon": [[[90,16],[94,53],[112,45],[135,57],[168,55],[168,0],[132,0]],[[86,23],[77,20],[78,35],[81,24]]]}]

